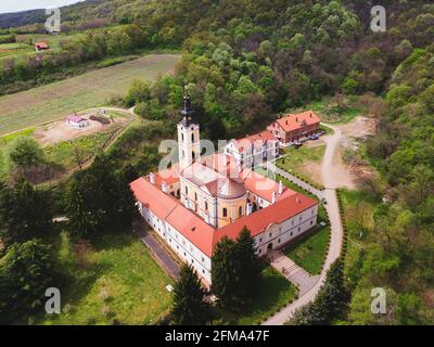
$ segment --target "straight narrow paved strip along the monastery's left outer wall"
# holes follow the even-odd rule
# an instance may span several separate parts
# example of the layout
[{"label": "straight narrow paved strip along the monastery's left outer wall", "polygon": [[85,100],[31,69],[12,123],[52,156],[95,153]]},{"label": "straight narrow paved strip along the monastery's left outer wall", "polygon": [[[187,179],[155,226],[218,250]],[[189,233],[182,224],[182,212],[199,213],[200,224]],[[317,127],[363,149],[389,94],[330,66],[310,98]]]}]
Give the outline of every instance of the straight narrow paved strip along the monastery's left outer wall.
[{"label": "straight narrow paved strip along the monastery's left outer wall", "polygon": [[151,250],[155,260],[166,270],[173,278],[179,278],[179,265],[168,255],[154,236],[149,233],[142,223],[133,222],[133,232],[139,236],[140,241]]}]

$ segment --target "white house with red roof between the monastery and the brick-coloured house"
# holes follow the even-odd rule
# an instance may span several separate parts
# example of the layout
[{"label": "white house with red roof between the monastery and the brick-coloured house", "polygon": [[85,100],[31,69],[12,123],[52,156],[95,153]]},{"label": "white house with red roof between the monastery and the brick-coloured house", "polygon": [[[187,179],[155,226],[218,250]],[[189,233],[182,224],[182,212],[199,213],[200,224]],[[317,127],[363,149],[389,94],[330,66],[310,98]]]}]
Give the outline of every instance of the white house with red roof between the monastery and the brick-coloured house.
[{"label": "white house with red roof between the monastery and the brick-coloured house", "polygon": [[279,141],[271,131],[232,140],[225,147],[225,154],[232,157],[238,166],[252,168],[279,156]]}]

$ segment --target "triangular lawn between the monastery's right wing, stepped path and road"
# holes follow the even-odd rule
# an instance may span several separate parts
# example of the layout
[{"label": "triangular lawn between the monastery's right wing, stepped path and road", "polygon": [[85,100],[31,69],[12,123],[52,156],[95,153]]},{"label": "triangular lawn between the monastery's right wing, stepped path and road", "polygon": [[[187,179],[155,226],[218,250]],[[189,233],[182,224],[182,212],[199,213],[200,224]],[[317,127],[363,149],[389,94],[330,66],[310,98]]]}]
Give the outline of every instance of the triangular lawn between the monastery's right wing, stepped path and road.
[{"label": "triangular lawn between the monastery's right wing, stepped path and road", "polygon": [[321,272],[330,239],[330,227],[318,230],[295,241],[283,253],[310,274]]}]

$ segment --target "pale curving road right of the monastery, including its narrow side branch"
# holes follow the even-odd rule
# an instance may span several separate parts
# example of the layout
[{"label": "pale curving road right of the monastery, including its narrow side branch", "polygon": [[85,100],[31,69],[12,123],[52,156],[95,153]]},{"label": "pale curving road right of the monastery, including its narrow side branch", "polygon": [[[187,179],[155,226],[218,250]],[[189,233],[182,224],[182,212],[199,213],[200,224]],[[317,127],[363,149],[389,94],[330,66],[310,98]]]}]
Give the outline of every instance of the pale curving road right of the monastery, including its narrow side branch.
[{"label": "pale curving road right of the monastery, including its narrow side branch", "polygon": [[[326,143],[327,143],[327,149],[324,153],[324,157],[322,160],[322,179],[324,182],[324,185],[328,187],[324,191],[318,191],[314,187],[309,187],[309,184],[303,182],[301,184],[299,180],[296,177],[293,177],[292,175],[288,174],[282,175],[283,177],[288,178],[292,182],[305,188],[308,187],[308,191],[312,192],[316,196],[320,198],[324,198],[327,204],[326,204],[326,209],[329,215],[330,219],[330,229],[331,229],[331,239],[330,239],[330,248],[329,253],[327,254],[327,258],[324,261],[324,266],[322,268],[321,274],[317,277],[317,282],[307,290],[304,294],[301,293],[298,299],[296,299],[294,303],[285,306],[282,310],[277,312],[275,316],[270,317],[268,320],[266,320],[263,325],[282,325],[284,324],[289,319],[292,318],[294,314],[295,310],[302,308],[303,306],[311,303],[315,300],[319,290],[322,286],[322,283],[326,280],[327,271],[330,269],[330,266],[341,256],[341,249],[342,249],[342,242],[344,237],[344,231],[342,228],[342,222],[341,222],[341,214],[339,209],[339,203],[337,203],[337,197],[336,197],[336,191],[334,190],[334,178],[331,177],[329,167],[332,165],[333,157],[336,155],[336,150],[337,150],[337,144],[341,141],[342,133],[339,131],[337,128],[333,126],[329,126],[334,130],[333,136],[327,137]],[[275,166],[275,165],[272,165]],[[271,168],[272,168],[271,166]],[[276,167],[276,166],[275,166]],[[279,169],[279,168],[277,168]],[[276,170],[279,172],[278,170]],[[284,171],[285,172],[285,171]],[[280,174],[280,172],[279,172]],[[316,191],[316,193],[315,193]]]}]

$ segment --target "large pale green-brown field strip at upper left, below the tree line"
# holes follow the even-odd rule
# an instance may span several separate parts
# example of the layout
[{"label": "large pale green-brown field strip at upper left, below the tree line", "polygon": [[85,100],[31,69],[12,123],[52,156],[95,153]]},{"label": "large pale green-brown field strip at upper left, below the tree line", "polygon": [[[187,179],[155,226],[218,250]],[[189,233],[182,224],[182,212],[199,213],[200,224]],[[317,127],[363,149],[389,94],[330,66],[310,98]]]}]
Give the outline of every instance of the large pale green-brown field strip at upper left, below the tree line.
[{"label": "large pale green-brown field strip at upper left, below the tree line", "polygon": [[0,98],[0,136],[38,124],[61,119],[86,108],[103,105],[111,97],[123,97],[136,78],[154,80],[173,72],[179,55],[150,54]]}]

